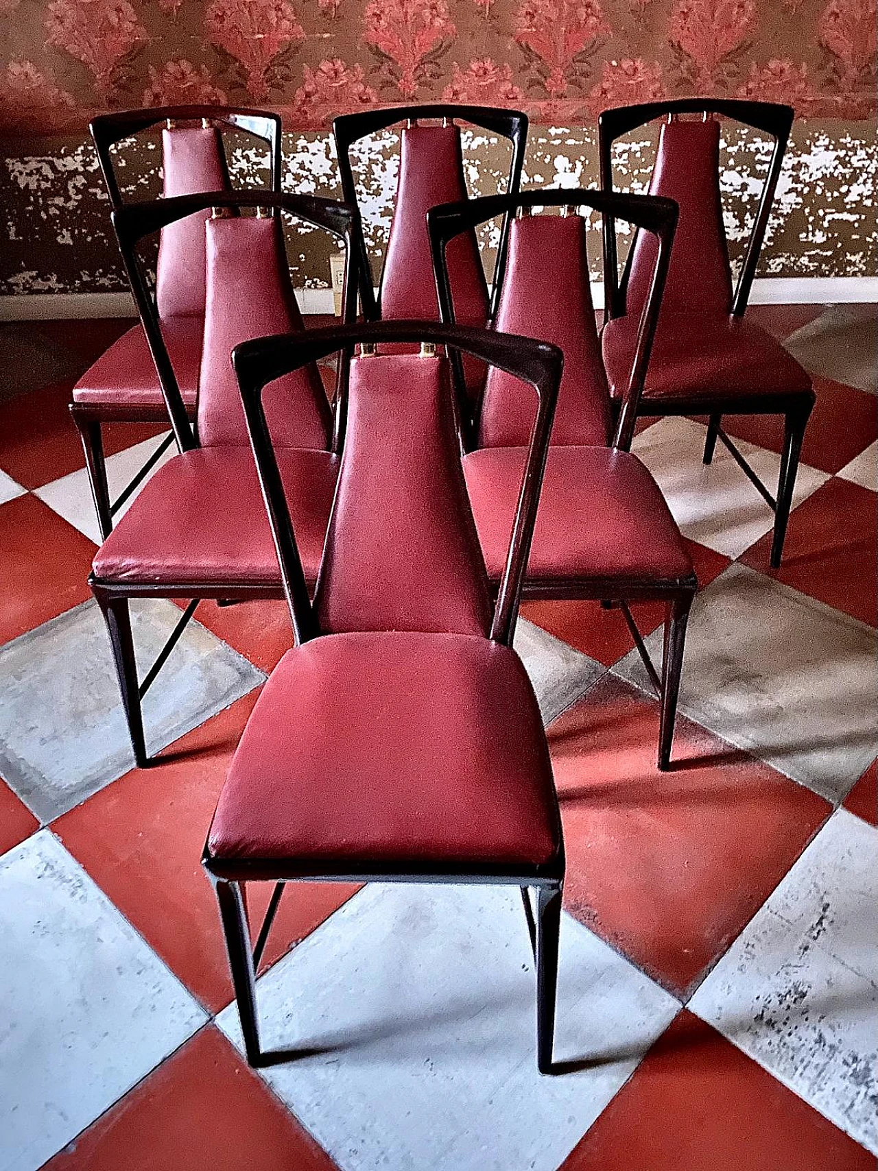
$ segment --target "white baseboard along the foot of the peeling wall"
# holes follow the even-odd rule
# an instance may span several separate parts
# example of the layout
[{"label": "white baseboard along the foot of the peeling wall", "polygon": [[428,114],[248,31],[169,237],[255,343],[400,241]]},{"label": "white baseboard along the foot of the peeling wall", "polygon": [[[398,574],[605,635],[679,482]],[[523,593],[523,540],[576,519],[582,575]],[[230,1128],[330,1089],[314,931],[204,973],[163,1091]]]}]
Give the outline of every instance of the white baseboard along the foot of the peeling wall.
[{"label": "white baseboard along the foot of the peeling wall", "polygon": [[[332,314],[332,289],[297,289],[305,314]],[[604,286],[592,286],[597,309]],[[878,276],[763,276],[753,283],[751,304],[840,304],[878,301]],[[60,317],[134,317],[130,293],[23,293],[0,296],[0,321]]]}]

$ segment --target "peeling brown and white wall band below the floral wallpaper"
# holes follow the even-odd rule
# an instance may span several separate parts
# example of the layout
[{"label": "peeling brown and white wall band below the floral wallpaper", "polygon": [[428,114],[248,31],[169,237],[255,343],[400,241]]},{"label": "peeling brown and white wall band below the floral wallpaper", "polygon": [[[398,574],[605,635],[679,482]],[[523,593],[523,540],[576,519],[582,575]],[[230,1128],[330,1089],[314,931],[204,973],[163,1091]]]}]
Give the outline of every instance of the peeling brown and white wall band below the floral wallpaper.
[{"label": "peeling brown and white wall band below the floral wallpaper", "polygon": [[[227,143],[233,183],[253,182],[265,162],[240,141]],[[291,191],[339,196],[334,150],[325,132],[285,136]],[[654,143],[642,133],[621,143],[617,182],[642,190]],[[474,193],[490,192],[508,167],[505,146],[483,133],[464,138],[467,179]],[[746,239],[758,196],[758,176],[769,145],[754,136],[724,131],[723,201],[733,256]],[[131,198],[159,190],[158,141],[148,138],[121,156]],[[366,141],[358,157],[359,180],[367,192],[365,230],[380,256],[396,187],[397,139]],[[750,174],[751,179],[741,179]],[[597,151],[591,129],[536,126],[531,130],[524,186],[590,186],[597,182]],[[878,155],[876,132],[865,123],[796,123],[781,177],[775,213],[760,263],[761,276],[873,275],[878,260]],[[39,145],[7,143],[0,170],[0,206],[8,244],[0,254],[0,295],[27,293],[107,293],[127,288],[97,160],[80,136],[50,137]],[[483,244],[490,255],[496,228]],[[332,242],[317,231],[291,235],[290,260],[300,287],[326,287]],[[599,271],[599,241],[593,267]],[[377,273],[377,269],[376,269]]]}]

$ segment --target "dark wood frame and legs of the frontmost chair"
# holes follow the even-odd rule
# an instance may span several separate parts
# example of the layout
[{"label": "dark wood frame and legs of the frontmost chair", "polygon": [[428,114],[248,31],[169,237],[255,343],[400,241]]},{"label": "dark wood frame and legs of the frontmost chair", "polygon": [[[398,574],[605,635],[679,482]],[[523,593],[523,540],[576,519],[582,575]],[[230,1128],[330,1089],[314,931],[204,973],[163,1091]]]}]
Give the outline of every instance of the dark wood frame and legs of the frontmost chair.
[{"label": "dark wood frame and legs of the frontmost chair", "polygon": [[[274,378],[297,370],[308,362],[318,361],[333,351],[342,349],[345,352],[349,352],[355,344],[373,347],[382,342],[427,342],[433,345],[454,347],[456,350],[472,354],[490,365],[496,365],[522,378],[537,391],[537,418],[512,527],[509,556],[499,584],[489,636],[494,642],[511,646],[564,358],[560,350],[544,342],[423,321],[392,321],[353,328],[309,330],[306,338],[259,338],[238,345],[233,351],[234,369],[240,383],[263,497],[274,534],[295,645],[299,646],[319,637],[320,629],[308,597],[295,545],[295,534],[290,520],[278,463],[261,405],[261,392],[265,385]],[[321,882],[496,883],[498,885],[516,885],[522,892],[537,968],[537,1063],[540,1073],[551,1073],[558,978],[558,938],[564,884],[564,845],[557,802],[554,813],[559,842],[558,854],[549,863],[522,868],[515,874],[491,865],[465,874],[461,874],[460,868],[452,865],[448,868],[436,865],[418,868],[415,860],[410,865],[387,865],[370,870],[368,874],[356,870],[356,868],[352,868],[347,872],[339,872],[335,867],[324,869],[319,863],[297,862],[294,858],[272,865],[263,863],[253,865],[246,861],[231,862],[213,858],[209,848],[205,847],[202,862],[213,882],[219,903],[232,984],[240,1014],[244,1047],[250,1064],[270,1066],[300,1056],[295,1050],[263,1052],[259,1043],[256,1004],[256,970],[259,966],[285,883],[308,879]],[[247,881],[275,883],[254,945],[243,885]],[[530,888],[535,888],[536,891],[536,909],[531,905]]]}]

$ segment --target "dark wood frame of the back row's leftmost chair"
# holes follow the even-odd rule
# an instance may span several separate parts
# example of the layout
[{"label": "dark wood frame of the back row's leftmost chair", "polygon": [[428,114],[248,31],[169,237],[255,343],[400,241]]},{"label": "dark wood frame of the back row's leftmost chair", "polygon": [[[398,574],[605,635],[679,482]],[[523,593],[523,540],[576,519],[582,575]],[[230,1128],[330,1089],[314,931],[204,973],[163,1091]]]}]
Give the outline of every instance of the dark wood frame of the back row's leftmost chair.
[{"label": "dark wood frame of the back row's leftmost chair", "polygon": [[[122,207],[125,203],[116,178],[113,148],[123,139],[161,123],[169,126],[189,123],[200,123],[205,126],[219,124],[264,139],[271,151],[271,191],[280,191],[283,152],[280,118],[277,114],[215,105],[166,105],[149,110],[123,110],[101,115],[89,124],[113,211]],[[118,498],[111,500],[107,484],[102,425],[104,423],[165,423],[168,416],[161,408],[104,403],[70,403],[70,415],[80,432],[86,452],[86,467],[91,485],[97,523],[101,536],[106,537],[113,528],[113,518],[173,443],[173,436],[166,436],[131,481],[122,489]]]}]

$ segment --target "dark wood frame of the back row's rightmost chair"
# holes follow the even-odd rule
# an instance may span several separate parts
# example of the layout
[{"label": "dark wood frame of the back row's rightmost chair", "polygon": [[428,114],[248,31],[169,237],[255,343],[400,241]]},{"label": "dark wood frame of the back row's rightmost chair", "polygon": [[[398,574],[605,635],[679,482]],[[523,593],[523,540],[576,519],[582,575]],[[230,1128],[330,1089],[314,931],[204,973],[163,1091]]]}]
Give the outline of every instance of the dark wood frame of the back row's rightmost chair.
[{"label": "dark wood frame of the back row's rightmost chair", "polygon": [[[765,238],[765,230],[771,215],[777,179],[781,174],[783,156],[787,151],[795,111],[792,107],[774,102],[747,102],[735,98],[685,97],[665,102],[647,102],[641,105],[619,107],[605,110],[598,118],[600,185],[605,192],[613,191],[613,143],[632,130],[648,125],[659,118],[676,118],[680,115],[700,114],[707,119],[719,116],[734,119],[751,130],[760,130],[774,139],[774,149],[768,165],[768,173],[762,187],[760,204],[756,210],[747,251],[739,274],[731,300],[731,316],[743,317],[756,275],[760,252]],[[612,217],[604,220],[604,274],[606,280],[605,320],[625,315],[625,294],[631,272],[632,249],[625,268],[619,276],[617,255],[617,238]],[[703,463],[713,460],[719,439],[729,451],[741,471],[747,475],[765,504],[775,514],[774,539],[771,543],[771,567],[777,569],[783,556],[783,543],[787,536],[787,525],[792,506],[792,491],[796,486],[796,472],[802,453],[805,426],[810,418],[816,396],[814,390],[796,393],[765,395],[754,391],[753,395],[688,395],[660,398],[644,396],[640,413],[648,416],[663,415],[709,415],[707,439],[705,443]],[[722,427],[723,415],[783,415],[784,437],[781,453],[781,471],[777,493],[772,495],[765,487],[740,448]]]}]

